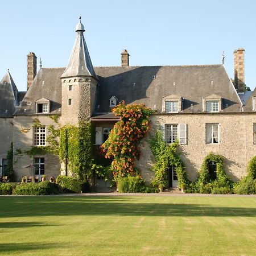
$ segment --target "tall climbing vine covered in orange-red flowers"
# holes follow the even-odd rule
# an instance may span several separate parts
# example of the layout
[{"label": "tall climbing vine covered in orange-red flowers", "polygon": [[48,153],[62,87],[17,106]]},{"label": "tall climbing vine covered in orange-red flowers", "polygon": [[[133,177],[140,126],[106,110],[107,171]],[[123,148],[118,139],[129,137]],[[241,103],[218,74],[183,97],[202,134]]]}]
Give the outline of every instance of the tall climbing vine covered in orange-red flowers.
[{"label": "tall climbing vine covered in orange-red flowers", "polygon": [[120,177],[138,173],[134,162],[141,155],[139,144],[150,129],[150,116],[154,111],[143,104],[125,105],[122,102],[113,112],[120,121],[115,123],[101,148],[106,152],[106,158],[113,159],[111,171],[117,181]]}]

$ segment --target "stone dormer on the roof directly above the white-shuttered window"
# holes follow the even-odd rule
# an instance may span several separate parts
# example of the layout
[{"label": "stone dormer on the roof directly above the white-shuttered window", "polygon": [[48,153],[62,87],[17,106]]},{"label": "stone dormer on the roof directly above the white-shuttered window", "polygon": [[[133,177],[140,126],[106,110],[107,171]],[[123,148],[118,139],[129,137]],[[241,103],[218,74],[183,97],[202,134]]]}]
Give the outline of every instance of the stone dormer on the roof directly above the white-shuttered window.
[{"label": "stone dormer on the roof directly above the white-shuttered window", "polygon": [[168,94],[162,100],[162,112],[179,113],[182,110],[182,100],[180,95]]}]

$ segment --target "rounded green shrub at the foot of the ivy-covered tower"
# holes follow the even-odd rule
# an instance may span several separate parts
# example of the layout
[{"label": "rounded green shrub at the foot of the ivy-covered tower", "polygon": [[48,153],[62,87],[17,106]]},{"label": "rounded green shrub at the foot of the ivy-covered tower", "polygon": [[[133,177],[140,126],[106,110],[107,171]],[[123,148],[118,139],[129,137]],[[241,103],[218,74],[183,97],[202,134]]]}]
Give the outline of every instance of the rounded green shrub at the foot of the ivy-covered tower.
[{"label": "rounded green shrub at the foot of the ivy-covered tower", "polygon": [[66,193],[81,193],[82,191],[82,182],[73,177],[60,175],[57,177],[56,182],[59,188]]}]

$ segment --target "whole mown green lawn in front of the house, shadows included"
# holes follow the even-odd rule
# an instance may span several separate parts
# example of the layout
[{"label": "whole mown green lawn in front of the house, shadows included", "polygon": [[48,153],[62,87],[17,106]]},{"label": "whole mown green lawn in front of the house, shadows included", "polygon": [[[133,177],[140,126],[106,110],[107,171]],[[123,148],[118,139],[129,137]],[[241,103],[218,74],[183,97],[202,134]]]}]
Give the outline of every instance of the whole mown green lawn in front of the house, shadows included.
[{"label": "whole mown green lawn in front of the house, shadows included", "polygon": [[256,197],[0,197],[0,254],[256,255]]}]

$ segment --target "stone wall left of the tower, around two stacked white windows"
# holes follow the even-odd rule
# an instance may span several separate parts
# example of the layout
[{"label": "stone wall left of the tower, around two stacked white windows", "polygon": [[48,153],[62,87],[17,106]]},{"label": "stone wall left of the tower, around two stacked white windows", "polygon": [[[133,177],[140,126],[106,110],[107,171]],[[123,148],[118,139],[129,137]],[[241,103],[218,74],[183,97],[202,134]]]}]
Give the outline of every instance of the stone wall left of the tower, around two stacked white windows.
[{"label": "stone wall left of the tower, around two stacked white windows", "polygon": [[[14,117],[14,172],[16,181],[20,181],[22,176],[31,176],[31,172],[33,172],[34,169],[32,168],[31,170],[31,168],[26,168],[26,166],[34,164],[34,158],[40,157],[44,157],[47,180],[50,176],[57,177],[60,174],[58,156],[50,154],[30,156],[24,153],[24,151],[30,150],[30,148],[34,146],[34,130],[32,125],[34,124],[33,121],[35,118],[38,118],[43,125],[46,125],[46,129],[49,125],[57,126],[47,115],[17,115]],[[30,130],[22,132],[22,130],[24,131],[26,128]],[[46,134],[48,134],[48,130]],[[19,154],[19,152],[22,152],[22,154]]]}]

